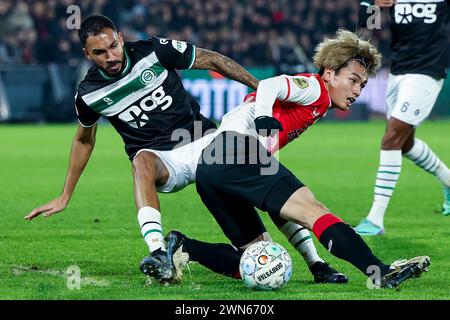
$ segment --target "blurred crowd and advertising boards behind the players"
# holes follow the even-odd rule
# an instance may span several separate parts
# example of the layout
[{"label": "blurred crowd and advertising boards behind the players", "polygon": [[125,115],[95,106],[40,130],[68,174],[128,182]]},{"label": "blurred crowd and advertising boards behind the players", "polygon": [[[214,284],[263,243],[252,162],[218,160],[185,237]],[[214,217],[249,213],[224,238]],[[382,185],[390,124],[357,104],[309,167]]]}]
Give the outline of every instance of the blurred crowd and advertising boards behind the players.
[{"label": "blurred crowd and advertising boards behind the players", "polygon": [[[68,30],[67,8],[82,17],[112,18],[127,41],[148,35],[186,40],[216,50],[248,68],[258,79],[280,73],[316,71],[314,46],[339,27],[356,30],[358,1],[295,0],[41,0],[0,1],[0,121],[67,122],[75,119],[73,96],[89,68],[76,30]],[[351,112],[333,111],[327,119],[368,120],[385,112],[389,68],[389,19],[371,32],[384,56],[384,68],[369,81]],[[367,32],[362,32],[367,35]],[[449,57],[450,60],[450,57]],[[182,71],[202,113],[220,121],[247,93],[217,74]],[[26,92],[27,94],[23,94]],[[431,115],[449,116],[450,83]]]}]

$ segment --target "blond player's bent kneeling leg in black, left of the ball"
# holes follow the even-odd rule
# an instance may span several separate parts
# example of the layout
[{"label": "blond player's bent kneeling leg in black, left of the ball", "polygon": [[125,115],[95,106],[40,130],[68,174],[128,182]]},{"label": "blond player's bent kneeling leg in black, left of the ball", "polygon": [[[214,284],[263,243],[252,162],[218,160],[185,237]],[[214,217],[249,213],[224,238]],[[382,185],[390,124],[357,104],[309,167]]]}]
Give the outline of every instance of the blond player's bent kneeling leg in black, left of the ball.
[{"label": "blond player's bent kneeling leg in black, left of the ball", "polygon": [[[270,236],[255,208],[248,201],[217,187],[215,182],[220,179],[215,175],[220,173],[219,168],[214,165],[199,165],[199,168],[197,192],[233,245],[206,243],[190,239],[179,231],[171,231],[166,237],[169,256],[171,248],[176,248],[173,250],[176,270],[182,270],[187,264],[186,261],[195,261],[213,272],[240,278],[239,261],[243,252],[241,247],[246,248],[253,241],[269,240]],[[181,245],[177,245],[180,243]],[[176,271],[176,276],[178,274],[179,271]]]}]

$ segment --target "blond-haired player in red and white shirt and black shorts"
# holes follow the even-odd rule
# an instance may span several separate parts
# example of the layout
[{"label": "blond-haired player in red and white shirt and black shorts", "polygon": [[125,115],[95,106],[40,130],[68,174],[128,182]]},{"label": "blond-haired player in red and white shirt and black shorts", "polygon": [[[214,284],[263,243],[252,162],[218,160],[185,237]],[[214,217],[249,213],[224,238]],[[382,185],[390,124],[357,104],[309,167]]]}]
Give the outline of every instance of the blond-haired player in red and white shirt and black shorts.
[{"label": "blond-haired player in red and white shirt and black shorts", "polygon": [[[215,272],[239,278],[243,250],[256,241],[270,240],[255,207],[268,212],[291,237],[303,231],[302,227],[312,230],[331,254],[353,264],[379,287],[396,287],[426,270],[430,263],[427,256],[383,263],[348,224],[318,202],[273,156],[270,166],[275,165],[276,172],[262,173],[269,166],[261,159],[261,149],[266,154],[276,152],[332,107],[348,110],[368,78],[375,75],[381,56],[368,41],[339,30],[335,39],[325,39],[317,46],[314,62],[318,74],[262,80],[256,93],[224,116],[215,141],[202,154],[203,158],[219,154],[219,161],[199,161],[196,186],[232,245],[205,243],[179,231],[169,232],[166,240],[171,248],[168,252],[175,252],[169,257],[175,274],[179,275],[188,261],[197,261]],[[221,143],[216,143],[219,138]],[[257,151],[248,147],[254,140],[258,140]],[[245,164],[227,162],[242,155],[248,160]],[[376,276],[372,274],[374,267],[378,268]]]}]

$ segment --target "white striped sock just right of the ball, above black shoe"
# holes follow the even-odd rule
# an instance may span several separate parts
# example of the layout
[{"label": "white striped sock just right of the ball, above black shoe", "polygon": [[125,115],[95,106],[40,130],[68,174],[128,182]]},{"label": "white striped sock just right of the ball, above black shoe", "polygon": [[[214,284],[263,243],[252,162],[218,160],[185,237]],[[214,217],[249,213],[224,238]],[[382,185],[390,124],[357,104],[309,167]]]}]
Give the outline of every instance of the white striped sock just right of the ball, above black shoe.
[{"label": "white striped sock just right of the ball, above black shoe", "polygon": [[279,229],[294,246],[295,250],[300,252],[308,267],[311,267],[317,261],[323,262],[317,254],[308,229],[290,221],[286,222]]}]

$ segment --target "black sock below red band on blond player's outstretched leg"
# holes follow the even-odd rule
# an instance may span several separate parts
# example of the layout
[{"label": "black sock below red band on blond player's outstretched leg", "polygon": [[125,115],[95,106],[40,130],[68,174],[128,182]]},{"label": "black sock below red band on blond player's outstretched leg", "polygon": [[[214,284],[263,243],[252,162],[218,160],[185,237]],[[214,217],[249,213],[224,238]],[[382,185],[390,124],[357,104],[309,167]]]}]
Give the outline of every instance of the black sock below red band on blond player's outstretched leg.
[{"label": "black sock below red band on blond player's outstretched leg", "polygon": [[355,230],[342,221],[325,227],[319,235],[319,241],[331,254],[350,262],[367,276],[374,273],[370,266],[378,266],[381,275],[389,270],[389,266],[374,256]]}]

